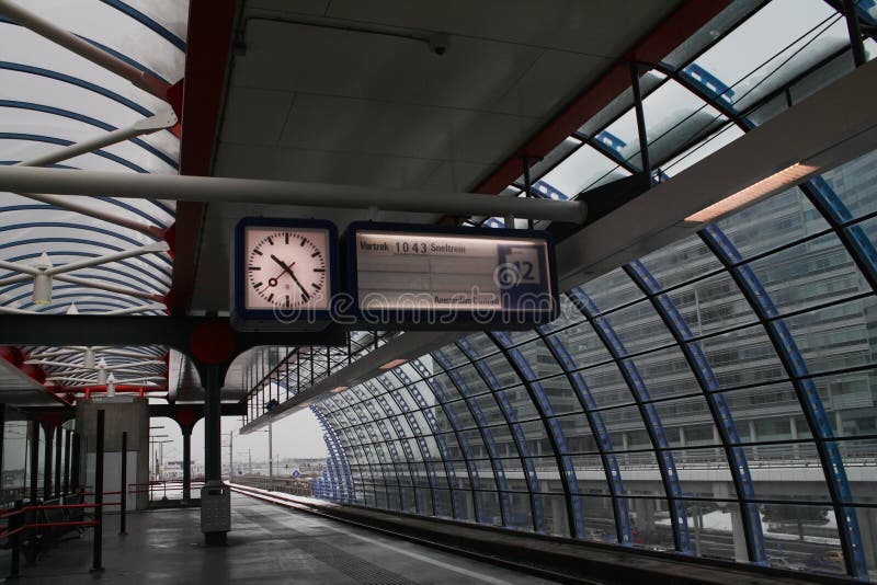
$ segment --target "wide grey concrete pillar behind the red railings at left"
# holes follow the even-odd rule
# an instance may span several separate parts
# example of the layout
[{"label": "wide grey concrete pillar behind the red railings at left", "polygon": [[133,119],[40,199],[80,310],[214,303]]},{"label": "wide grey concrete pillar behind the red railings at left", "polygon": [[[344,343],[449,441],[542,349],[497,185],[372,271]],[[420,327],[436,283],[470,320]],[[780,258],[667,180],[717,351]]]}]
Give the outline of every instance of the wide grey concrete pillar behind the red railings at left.
[{"label": "wide grey concrete pillar behind the red railings at left", "polygon": [[[104,427],[104,492],[126,492],[128,509],[149,507],[147,491],[130,493],[122,483],[122,433],[128,434],[127,481],[143,484],[149,481],[149,403],[132,394],[100,397],[77,401],[76,428],[81,437],[84,456],[84,479],[81,483],[94,485],[95,429],[98,410],[105,412]],[[116,502],[116,496],[107,497]]]}]

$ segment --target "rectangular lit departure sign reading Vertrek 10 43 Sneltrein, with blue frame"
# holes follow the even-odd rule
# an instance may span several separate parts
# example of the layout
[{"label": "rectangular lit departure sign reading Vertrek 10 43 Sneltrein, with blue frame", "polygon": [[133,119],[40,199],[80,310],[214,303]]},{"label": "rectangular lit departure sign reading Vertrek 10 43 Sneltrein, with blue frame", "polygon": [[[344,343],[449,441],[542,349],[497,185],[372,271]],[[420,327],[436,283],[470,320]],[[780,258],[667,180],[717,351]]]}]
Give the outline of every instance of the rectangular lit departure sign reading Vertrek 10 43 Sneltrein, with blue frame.
[{"label": "rectangular lit departure sign reading Vertrek 10 43 Sneltrein, with blue frame", "polygon": [[353,312],[371,323],[516,329],[557,316],[546,232],[361,221],[346,250]]}]

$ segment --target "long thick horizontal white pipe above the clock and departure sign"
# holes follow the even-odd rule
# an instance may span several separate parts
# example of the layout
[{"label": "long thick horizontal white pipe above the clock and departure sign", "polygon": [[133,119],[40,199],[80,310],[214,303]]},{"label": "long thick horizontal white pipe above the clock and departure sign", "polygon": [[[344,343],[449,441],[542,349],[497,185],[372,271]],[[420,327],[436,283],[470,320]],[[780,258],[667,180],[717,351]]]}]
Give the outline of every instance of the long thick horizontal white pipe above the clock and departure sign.
[{"label": "long thick horizontal white pipe above the clock and departure sign", "polygon": [[21,193],[160,197],[180,202],[236,202],[308,207],[392,211],[483,215],[551,221],[584,221],[586,206],[577,200],[498,197],[477,193],[441,193],[415,190],[332,185],[257,179],[110,173],[1,167],[0,190]]}]

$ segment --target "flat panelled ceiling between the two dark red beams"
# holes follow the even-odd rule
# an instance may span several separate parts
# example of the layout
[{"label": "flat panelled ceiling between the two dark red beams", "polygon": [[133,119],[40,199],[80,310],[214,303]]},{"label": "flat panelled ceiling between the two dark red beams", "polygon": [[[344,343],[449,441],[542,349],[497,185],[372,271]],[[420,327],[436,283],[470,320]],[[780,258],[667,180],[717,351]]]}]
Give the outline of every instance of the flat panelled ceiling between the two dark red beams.
[{"label": "flat panelled ceiling between the two dark red beams", "polygon": [[[250,0],[214,174],[470,191],[679,3]],[[449,34],[443,56],[398,36],[435,32]],[[328,217],[341,229],[365,218],[362,211],[212,205],[193,309],[227,308],[228,240],[248,214]]]}]

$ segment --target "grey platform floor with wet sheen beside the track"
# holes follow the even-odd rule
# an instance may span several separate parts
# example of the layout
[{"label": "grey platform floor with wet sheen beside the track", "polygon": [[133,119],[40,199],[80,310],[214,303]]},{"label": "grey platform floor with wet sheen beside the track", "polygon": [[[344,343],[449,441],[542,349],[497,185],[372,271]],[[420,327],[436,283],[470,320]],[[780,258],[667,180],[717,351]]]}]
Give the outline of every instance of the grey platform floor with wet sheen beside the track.
[{"label": "grey platform floor with wet sheen beside the track", "polygon": [[[102,573],[91,573],[91,530],[22,562],[9,583],[194,584],[538,584],[548,583],[490,564],[376,535],[310,514],[232,495],[228,547],[207,548],[200,511],[147,511],[128,515],[128,535],[106,516]],[[0,552],[0,575],[9,574],[9,552]]]}]

